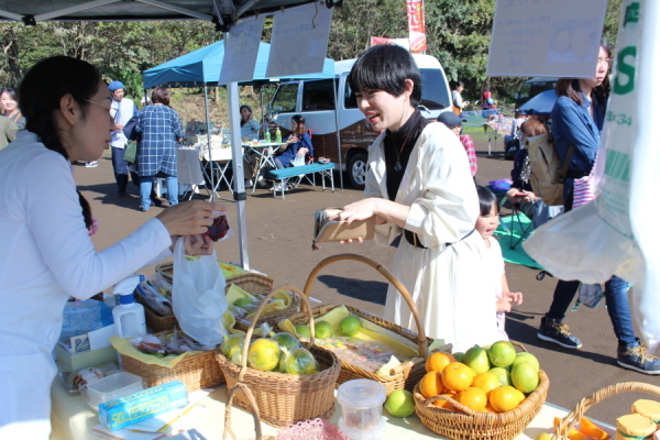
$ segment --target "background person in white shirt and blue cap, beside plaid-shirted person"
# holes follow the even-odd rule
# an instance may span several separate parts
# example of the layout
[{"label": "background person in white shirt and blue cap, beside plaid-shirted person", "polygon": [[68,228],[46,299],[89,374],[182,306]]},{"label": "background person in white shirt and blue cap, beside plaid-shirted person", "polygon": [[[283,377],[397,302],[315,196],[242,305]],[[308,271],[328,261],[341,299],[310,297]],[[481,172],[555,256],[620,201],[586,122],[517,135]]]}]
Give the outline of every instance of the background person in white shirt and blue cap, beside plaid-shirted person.
[{"label": "background person in white shirt and blue cap, beside plaid-shirted person", "polygon": [[[110,141],[110,146],[112,147],[112,169],[114,169],[114,179],[119,188],[117,196],[123,197],[128,194],[127,186],[129,185],[129,165],[123,158],[129,140],[123,134],[123,128],[133,118],[133,114],[135,114],[135,103],[129,98],[124,98],[125,90],[121,81],[110,82],[108,90],[112,94],[110,116],[114,121],[112,141]],[[136,176],[133,176],[133,179],[135,180]],[[139,178],[136,184],[140,185]]]}]

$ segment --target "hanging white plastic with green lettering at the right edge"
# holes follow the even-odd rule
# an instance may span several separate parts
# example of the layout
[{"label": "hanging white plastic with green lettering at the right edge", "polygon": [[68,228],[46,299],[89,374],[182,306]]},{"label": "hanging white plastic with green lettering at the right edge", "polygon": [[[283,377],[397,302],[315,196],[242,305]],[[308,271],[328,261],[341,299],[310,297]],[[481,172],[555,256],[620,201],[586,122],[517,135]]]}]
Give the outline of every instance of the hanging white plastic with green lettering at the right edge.
[{"label": "hanging white plastic with green lettering at the right edge", "polygon": [[660,344],[660,265],[654,190],[660,148],[660,2],[626,0],[595,169],[596,199],[539,228],[522,246],[561,279],[632,283],[634,317],[652,353]]}]

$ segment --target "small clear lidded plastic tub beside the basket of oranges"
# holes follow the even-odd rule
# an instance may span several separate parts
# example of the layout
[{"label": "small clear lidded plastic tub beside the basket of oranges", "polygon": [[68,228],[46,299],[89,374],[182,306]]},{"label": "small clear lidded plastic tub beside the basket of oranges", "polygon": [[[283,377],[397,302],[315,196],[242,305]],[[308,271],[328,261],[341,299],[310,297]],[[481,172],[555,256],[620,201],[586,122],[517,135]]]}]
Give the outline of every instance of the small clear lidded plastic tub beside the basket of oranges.
[{"label": "small clear lidded plastic tub beside the basket of oranges", "polygon": [[[365,435],[370,432],[370,436],[380,432],[380,428],[385,422],[383,418],[385,399],[383,384],[369,378],[344,382],[337,389],[337,400],[341,405],[343,425],[352,431],[364,431]],[[349,432],[345,433],[349,435]],[[362,437],[355,438],[362,439]]]}]

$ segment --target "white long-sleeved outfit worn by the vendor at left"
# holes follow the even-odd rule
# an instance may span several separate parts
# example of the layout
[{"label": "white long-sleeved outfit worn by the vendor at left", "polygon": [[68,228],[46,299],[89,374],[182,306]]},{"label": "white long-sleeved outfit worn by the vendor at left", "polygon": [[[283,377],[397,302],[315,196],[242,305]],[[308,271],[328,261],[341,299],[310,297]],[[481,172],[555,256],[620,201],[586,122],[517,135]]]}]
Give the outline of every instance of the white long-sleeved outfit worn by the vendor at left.
[{"label": "white long-sleeved outfit worn by the vendor at left", "polygon": [[28,131],[0,151],[0,433],[20,421],[48,426],[51,351],[69,295],[89,298],[172,255],[170,244],[151,219],[97,252],[64,156]]}]

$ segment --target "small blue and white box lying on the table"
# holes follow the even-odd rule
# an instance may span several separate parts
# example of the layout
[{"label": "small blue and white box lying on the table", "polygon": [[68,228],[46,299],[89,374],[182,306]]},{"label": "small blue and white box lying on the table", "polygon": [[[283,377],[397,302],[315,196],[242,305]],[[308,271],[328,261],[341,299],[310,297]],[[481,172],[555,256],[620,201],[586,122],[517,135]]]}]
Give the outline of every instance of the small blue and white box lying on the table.
[{"label": "small blue and white box lying on the table", "polygon": [[99,420],[116,431],[186,405],[186,385],[172,381],[99,405]]}]

